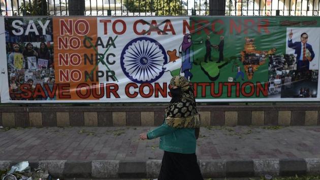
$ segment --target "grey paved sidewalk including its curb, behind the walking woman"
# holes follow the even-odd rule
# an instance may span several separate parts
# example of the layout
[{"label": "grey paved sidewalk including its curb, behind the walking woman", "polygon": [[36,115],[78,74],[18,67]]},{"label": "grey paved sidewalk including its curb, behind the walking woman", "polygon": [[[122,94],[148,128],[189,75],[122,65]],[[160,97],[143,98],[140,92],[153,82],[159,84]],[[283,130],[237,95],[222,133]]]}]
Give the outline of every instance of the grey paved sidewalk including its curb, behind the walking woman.
[{"label": "grey paved sidewalk including its curb, behind the walking woman", "polygon": [[[20,161],[56,177],[153,178],[163,151],[154,127],[0,129],[0,170]],[[203,127],[197,156],[204,177],[320,174],[320,127]]]}]

